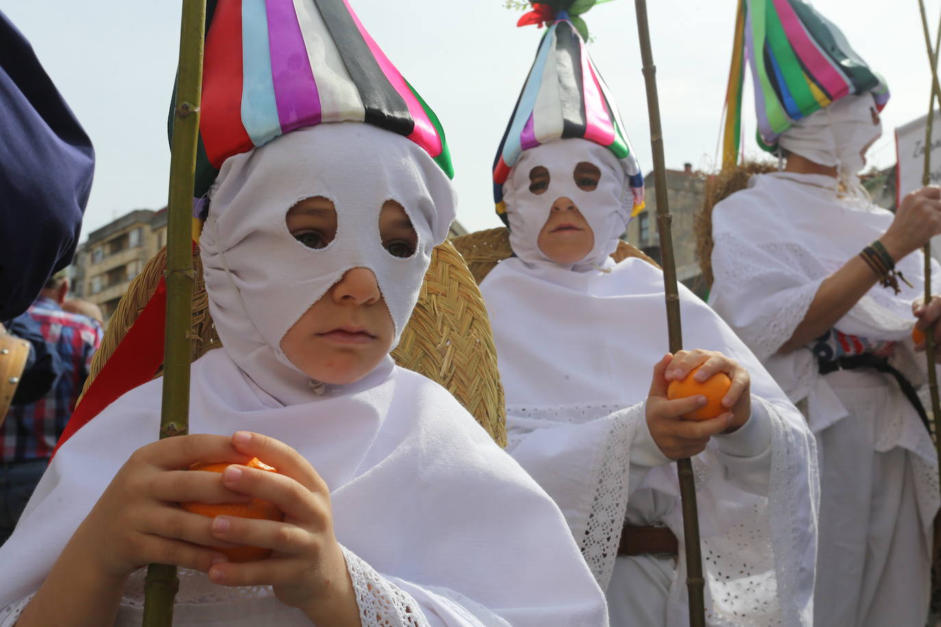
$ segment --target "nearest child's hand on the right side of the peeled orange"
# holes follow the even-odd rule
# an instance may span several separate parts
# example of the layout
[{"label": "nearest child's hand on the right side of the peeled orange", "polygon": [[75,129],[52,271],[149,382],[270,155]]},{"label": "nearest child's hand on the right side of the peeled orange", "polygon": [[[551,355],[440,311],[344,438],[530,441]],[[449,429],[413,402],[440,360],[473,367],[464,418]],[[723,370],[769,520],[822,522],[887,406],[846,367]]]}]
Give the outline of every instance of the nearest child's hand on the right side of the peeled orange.
[{"label": "nearest child's hand on the right side of the peeled orange", "polygon": [[271,586],[281,603],[300,608],[311,619],[339,624],[337,619],[348,617],[358,623],[346,560],[333,535],[327,484],[294,448],[274,438],[238,431],[231,443],[246,458],[257,457],[278,473],[231,466],[222,473],[223,485],[274,504],[284,512],[284,522],[216,516],[216,541],[270,548],[273,554],[254,562],[215,564],[209,576],[223,586]]}]

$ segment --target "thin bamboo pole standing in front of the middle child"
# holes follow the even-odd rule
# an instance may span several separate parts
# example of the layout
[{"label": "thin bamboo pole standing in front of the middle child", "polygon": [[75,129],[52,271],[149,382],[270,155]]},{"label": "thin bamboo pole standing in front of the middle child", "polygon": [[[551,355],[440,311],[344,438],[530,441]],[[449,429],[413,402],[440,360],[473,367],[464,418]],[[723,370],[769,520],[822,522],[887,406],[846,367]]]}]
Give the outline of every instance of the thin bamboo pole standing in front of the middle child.
[{"label": "thin bamboo pole standing in front of the middle child", "polygon": [[[666,193],[666,170],[663,162],[663,133],[660,123],[660,100],[657,95],[657,68],[653,64],[650,47],[650,29],[647,25],[646,0],[635,0],[637,33],[644,61],[647,112],[650,116],[650,148],[653,151],[654,180],[657,186],[657,231],[660,234],[663,291],[666,294],[666,324],[670,339],[670,353],[683,348],[683,333],[679,319],[679,290],[677,264],[673,253],[673,234],[669,200]],[[679,494],[683,507],[683,539],[686,547],[686,588],[690,600],[691,627],[705,627],[706,607],[703,600],[702,556],[699,547],[699,516],[696,511],[696,490],[693,462],[678,460]]]}]

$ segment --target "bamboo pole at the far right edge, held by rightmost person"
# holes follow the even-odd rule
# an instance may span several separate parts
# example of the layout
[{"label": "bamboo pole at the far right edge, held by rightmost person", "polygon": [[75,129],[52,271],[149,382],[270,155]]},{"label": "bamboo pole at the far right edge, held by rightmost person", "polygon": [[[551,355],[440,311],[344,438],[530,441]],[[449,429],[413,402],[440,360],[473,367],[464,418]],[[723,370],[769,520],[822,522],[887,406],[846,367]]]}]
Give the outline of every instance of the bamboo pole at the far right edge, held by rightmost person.
[{"label": "bamboo pole at the far right edge, held by rightmost person", "polygon": [[[934,123],[934,101],[941,101],[941,86],[938,85],[937,75],[937,55],[941,49],[941,24],[938,24],[938,33],[932,46],[931,34],[928,29],[928,15],[925,12],[924,0],[918,0],[918,8],[921,12],[921,26],[925,35],[925,46],[928,48],[928,61],[932,70],[932,88],[931,96],[928,98],[928,119],[925,122],[925,166],[921,175],[921,184],[929,185],[931,183],[932,172],[932,131]],[[925,305],[932,301],[932,243],[929,240],[925,243]],[[925,333],[925,358],[928,362],[928,390],[932,399],[932,423],[934,427],[934,447],[937,451],[938,459],[941,459],[941,431],[939,431],[939,420],[941,420],[941,400],[938,398],[938,378],[937,368],[934,362],[935,344],[934,328],[932,325]],[[935,602],[941,592],[941,519],[934,517],[934,538],[932,547],[932,601]]]}]

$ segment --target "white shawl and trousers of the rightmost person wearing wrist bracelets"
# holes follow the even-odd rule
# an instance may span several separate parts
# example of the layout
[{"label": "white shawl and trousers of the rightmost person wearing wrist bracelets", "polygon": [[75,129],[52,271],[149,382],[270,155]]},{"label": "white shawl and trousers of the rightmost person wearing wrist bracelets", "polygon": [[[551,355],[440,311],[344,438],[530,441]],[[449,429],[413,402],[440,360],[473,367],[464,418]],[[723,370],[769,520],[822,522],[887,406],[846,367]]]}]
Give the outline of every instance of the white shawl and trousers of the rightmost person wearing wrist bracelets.
[{"label": "white shawl and trousers of the rightmost person wearing wrist bracelets", "polygon": [[[837,197],[822,175],[758,175],[712,213],[710,303],[755,351],[790,400],[804,401],[821,457],[818,624],[923,624],[927,548],[939,498],[931,438],[898,384],[866,371],[821,376],[809,348],[777,353],[804,320],[822,281],[868,243],[892,214]],[[892,364],[916,386],[924,357],[911,350],[911,303],[923,293],[920,252],[897,264],[915,286],[879,285],[836,328],[898,341]],[[934,273],[939,266],[934,262]],[[891,494],[893,505],[885,507]],[[911,525],[913,516],[919,525]],[[847,573],[855,573],[847,577]],[[858,575],[858,577],[856,576]],[[922,617],[919,623],[904,617]]]}]

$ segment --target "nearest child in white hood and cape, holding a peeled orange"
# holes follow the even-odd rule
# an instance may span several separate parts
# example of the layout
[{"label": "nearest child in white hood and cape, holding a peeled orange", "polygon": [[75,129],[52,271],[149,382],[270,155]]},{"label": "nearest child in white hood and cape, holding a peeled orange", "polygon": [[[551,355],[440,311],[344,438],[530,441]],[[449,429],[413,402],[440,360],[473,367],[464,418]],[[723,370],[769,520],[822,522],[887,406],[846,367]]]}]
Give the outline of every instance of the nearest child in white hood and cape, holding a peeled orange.
[{"label": "nearest child in white hood and cape, holding a peeled orange", "polygon": [[[606,624],[550,497],[389,356],[454,218],[428,142],[356,119],[285,133],[228,156],[209,194],[223,346],[192,365],[194,434],[152,442],[159,380],[76,431],[0,548],[0,624],[140,624],[150,562],[182,567],[180,625]],[[234,465],[179,470],[194,462]],[[250,498],[283,522],[179,506]],[[219,551],[243,544],[274,553]]]}]

